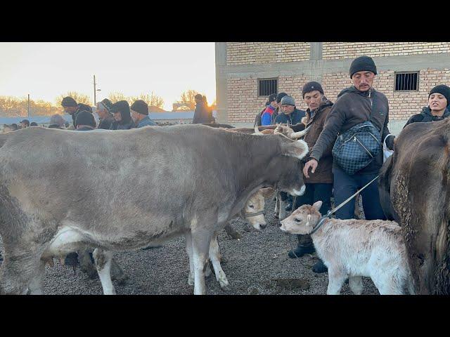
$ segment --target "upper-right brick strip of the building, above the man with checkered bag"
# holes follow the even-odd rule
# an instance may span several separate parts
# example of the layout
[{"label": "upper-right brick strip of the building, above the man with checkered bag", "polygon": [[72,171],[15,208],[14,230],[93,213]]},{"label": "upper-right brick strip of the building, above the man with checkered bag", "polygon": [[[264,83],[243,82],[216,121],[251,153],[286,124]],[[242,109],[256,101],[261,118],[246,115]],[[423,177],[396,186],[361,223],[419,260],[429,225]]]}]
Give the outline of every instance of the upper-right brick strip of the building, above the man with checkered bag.
[{"label": "upper-right brick strip of the building, above the man with checkered bag", "polygon": [[449,42],[323,42],[323,60],[394,55],[450,53]]}]

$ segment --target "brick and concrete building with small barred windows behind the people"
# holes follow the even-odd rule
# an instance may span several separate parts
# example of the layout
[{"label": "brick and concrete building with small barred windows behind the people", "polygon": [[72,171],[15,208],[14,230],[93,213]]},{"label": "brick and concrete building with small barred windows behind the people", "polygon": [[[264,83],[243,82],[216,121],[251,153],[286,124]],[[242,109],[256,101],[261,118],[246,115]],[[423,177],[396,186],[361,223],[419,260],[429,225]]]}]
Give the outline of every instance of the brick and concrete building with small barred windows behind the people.
[{"label": "brick and concrete building with small barred windows behind the people", "polygon": [[449,42],[217,42],[219,121],[252,124],[274,90],[293,95],[306,109],[301,88],[311,80],[320,81],[334,102],[352,85],[350,63],[360,55],[375,60],[374,87],[390,102],[396,133],[427,105],[430,88],[450,84]]}]

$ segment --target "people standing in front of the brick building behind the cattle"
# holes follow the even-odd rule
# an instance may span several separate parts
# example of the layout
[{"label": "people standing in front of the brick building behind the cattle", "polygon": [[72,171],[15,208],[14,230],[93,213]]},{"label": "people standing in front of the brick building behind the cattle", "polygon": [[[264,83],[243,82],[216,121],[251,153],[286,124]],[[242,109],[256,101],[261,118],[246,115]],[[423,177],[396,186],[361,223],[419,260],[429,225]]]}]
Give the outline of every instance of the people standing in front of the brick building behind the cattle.
[{"label": "people standing in front of the brick building behind the cattle", "polygon": [[[324,216],[331,208],[331,197],[336,206],[378,176],[383,165],[383,144],[386,150],[394,148],[395,136],[387,126],[389,122],[389,102],[386,96],[373,88],[377,68],[372,58],[361,56],[353,60],[349,76],[353,85],[344,88],[335,103],[326,98],[324,90],[316,81],[310,81],[302,87],[302,98],[307,110],[298,110],[295,100],[287,93],[269,95],[266,107],[257,114],[258,126],[277,123],[291,125],[302,123],[309,128],[304,136],[310,149],[303,161],[303,174],[306,190],[286,206],[286,211],[297,209],[303,204],[323,201],[320,212]],[[428,94],[428,106],[419,114],[413,115],[406,125],[416,122],[441,121],[450,116],[450,88],[444,84],[435,86]],[[369,124],[368,124],[369,123]],[[363,125],[364,124],[364,125]],[[337,136],[345,136],[361,126],[371,125],[379,133],[380,147],[377,155],[366,166],[354,173],[338,164],[333,147]],[[406,126],[405,125],[405,126]],[[356,132],[356,131],[354,131]],[[355,138],[356,140],[356,138]],[[386,220],[380,204],[378,186],[368,185],[361,191],[362,205],[366,220]],[[281,195],[283,199],[283,195]],[[284,199],[288,197],[284,196]],[[291,199],[292,200],[292,199]],[[293,204],[292,204],[293,202]],[[336,218],[354,218],[355,198],[336,211]],[[298,235],[297,248],[289,252],[290,258],[314,253],[314,245],[309,235]],[[314,272],[326,272],[327,267],[321,260],[316,263]]]}]

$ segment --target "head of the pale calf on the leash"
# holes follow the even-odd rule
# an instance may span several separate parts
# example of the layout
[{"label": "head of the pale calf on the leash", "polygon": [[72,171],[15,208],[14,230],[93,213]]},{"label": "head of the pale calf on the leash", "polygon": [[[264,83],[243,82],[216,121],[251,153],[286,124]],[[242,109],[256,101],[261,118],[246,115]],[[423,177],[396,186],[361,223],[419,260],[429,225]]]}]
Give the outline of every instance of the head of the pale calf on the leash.
[{"label": "head of the pale calf on the leash", "polygon": [[315,202],[312,206],[303,205],[281,221],[280,229],[291,234],[309,234],[321,218],[322,201]]}]

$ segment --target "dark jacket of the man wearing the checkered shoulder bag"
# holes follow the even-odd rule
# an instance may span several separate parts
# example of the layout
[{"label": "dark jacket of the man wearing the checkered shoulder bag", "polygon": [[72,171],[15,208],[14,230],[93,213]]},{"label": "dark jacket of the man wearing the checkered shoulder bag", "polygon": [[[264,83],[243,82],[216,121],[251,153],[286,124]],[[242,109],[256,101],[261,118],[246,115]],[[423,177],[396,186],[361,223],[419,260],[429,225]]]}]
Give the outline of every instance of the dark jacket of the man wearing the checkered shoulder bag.
[{"label": "dark jacket of the man wearing the checkered shoulder bag", "polygon": [[[390,133],[387,128],[389,122],[389,103],[383,93],[371,88],[368,91],[359,91],[354,86],[346,88],[338,95],[338,100],[333,105],[319,139],[311,150],[310,158],[319,161],[323,153],[335,142],[338,134],[345,133],[356,124],[368,121],[373,112],[372,121],[380,131],[381,142],[378,156],[364,169],[356,174],[373,174],[380,171],[383,165],[383,140]],[[333,166],[336,165],[333,162]]]}]

